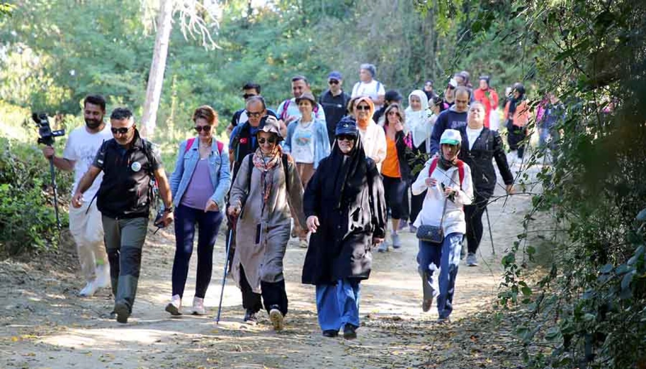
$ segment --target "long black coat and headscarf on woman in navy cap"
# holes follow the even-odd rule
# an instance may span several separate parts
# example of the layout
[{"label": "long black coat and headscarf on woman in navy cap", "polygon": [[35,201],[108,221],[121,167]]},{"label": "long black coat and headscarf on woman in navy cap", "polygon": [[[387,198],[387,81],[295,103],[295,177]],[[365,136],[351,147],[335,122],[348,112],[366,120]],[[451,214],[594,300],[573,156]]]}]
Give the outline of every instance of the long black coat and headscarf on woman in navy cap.
[{"label": "long black coat and headscarf on woman in navy cap", "polygon": [[377,165],[366,158],[360,143],[353,153],[343,162],[335,144],[307,183],[304,213],[318,216],[320,226],[309,240],[303,283],[367,279],[372,238],[386,235],[386,202]]}]

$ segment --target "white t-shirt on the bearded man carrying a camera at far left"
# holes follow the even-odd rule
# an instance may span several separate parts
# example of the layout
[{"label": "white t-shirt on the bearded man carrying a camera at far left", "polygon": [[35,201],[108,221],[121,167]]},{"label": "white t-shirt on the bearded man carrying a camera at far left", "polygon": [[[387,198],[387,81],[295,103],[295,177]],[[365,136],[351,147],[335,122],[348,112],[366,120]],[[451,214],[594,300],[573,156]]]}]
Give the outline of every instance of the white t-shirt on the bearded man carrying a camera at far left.
[{"label": "white t-shirt on the bearded man carrying a camera at far left", "polygon": [[[101,143],[112,139],[112,132],[110,132],[110,123],[105,124],[103,131],[97,133],[90,133],[83,127],[78,127],[70,133],[65,144],[63,151],[63,158],[74,160],[74,185],[72,186],[72,195],[76,192],[76,186],[83,178],[83,174],[90,169],[90,165],[94,162],[94,157],[98,153]],[[83,200],[90,201],[94,198],[96,191],[101,186],[103,180],[103,172],[99,173],[94,180],[92,186],[83,194]]]}]

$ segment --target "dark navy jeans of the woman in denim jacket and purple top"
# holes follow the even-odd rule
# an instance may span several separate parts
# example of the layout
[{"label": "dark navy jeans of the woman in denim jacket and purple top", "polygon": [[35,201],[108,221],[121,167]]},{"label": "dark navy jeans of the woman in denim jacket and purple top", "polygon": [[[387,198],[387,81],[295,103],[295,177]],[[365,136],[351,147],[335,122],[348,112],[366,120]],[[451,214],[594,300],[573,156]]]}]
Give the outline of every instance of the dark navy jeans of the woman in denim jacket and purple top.
[{"label": "dark navy jeans of the woman in denim jacket and purple top", "polygon": [[213,271],[213,246],[222,224],[222,212],[180,205],[175,211],[175,259],[172,263],[172,295],[184,294],[189,262],[193,254],[195,225],[198,226],[198,271],[195,297],[204,298]]}]

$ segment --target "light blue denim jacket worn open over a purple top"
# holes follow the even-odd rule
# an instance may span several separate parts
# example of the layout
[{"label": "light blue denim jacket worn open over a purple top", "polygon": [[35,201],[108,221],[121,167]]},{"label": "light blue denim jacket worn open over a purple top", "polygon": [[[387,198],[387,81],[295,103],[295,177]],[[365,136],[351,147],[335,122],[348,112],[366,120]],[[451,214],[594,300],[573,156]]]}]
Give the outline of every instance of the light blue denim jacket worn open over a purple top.
[{"label": "light blue denim jacket worn open over a purple top", "polygon": [[[184,195],[191,176],[195,171],[198,160],[200,160],[200,153],[198,151],[200,139],[195,138],[193,146],[188,151],[186,150],[187,141],[180,143],[180,151],[177,155],[177,162],[175,163],[175,171],[171,175],[171,193],[172,204],[178,206],[182,196]],[[220,211],[225,211],[224,196],[229,191],[231,185],[231,176],[229,174],[229,150],[226,145],[222,148],[222,153],[218,153],[218,142],[213,140],[211,144],[211,154],[209,154],[209,174],[211,174],[211,184],[215,188],[215,192],[211,196]]]}]

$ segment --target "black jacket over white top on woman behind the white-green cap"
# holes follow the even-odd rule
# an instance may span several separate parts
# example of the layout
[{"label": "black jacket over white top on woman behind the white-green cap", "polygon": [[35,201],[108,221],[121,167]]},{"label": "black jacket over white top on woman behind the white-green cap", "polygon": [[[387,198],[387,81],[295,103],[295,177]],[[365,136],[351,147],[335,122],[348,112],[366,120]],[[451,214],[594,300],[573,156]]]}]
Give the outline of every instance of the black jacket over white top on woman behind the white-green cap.
[{"label": "black jacket over white top on woman behind the white-green cap", "polygon": [[475,139],[473,147],[469,149],[466,127],[460,127],[458,131],[462,135],[462,147],[458,158],[471,168],[475,195],[485,197],[494,195],[496,175],[492,158],[495,158],[495,163],[498,165],[498,170],[505,184],[514,183],[514,176],[509,169],[509,165],[507,165],[503,139],[500,138],[498,132],[483,127],[480,136]]}]

